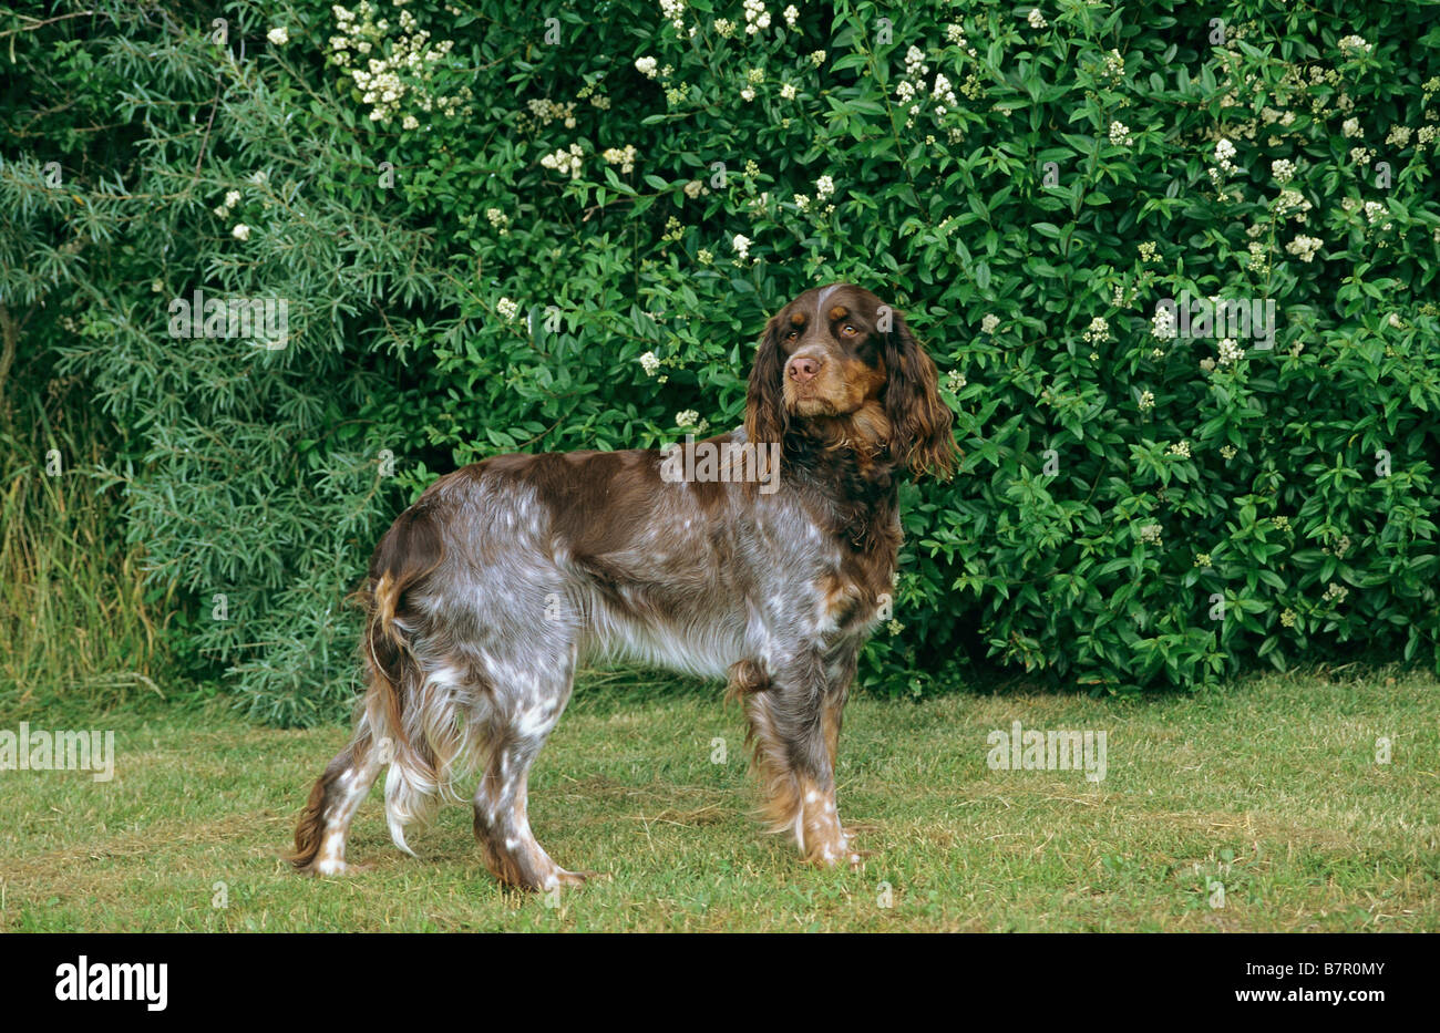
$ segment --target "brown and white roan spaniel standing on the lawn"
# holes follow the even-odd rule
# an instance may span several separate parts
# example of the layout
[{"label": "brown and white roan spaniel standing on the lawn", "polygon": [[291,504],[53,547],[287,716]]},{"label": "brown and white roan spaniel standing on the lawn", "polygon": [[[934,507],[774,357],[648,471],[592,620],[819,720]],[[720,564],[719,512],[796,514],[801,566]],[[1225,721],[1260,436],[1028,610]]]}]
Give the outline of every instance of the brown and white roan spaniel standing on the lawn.
[{"label": "brown and white roan spaniel standing on the lawn", "polygon": [[868,291],[806,291],[765,329],[744,427],[683,452],[495,456],[400,514],[361,593],[364,708],[310,794],[297,868],[346,870],[382,768],[408,853],[406,826],[480,768],[487,868],[582,880],[536,842],[526,787],[576,668],[612,657],[729,676],[773,829],[812,862],[858,862],[835,810],[841,711],[891,591],[897,479],[955,466],[935,364]]}]

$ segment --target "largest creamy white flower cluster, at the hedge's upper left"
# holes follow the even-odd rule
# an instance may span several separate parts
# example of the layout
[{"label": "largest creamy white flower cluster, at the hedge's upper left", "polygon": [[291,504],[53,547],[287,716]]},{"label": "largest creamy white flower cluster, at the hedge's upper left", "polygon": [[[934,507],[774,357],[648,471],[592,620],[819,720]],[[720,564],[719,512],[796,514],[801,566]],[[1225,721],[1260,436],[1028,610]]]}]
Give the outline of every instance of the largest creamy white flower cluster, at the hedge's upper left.
[{"label": "largest creamy white flower cluster, at the hedge's upper left", "polygon": [[[350,76],[361,94],[360,99],[370,105],[372,122],[389,122],[400,115],[406,98],[422,112],[441,111],[449,117],[471,112],[467,104],[474,96],[469,86],[462,86],[455,96],[433,96],[428,89],[435,78],[435,63],[449,55],[455,47],[454,40],[432,43],[431,33],[420,29],[408,10],[400,12],[400,35],[390,40],[390,22],[383,17],[376,20],[376,9],[370,0],[360,0],[354,12],[340,4],[330,10],[340,29],[338,35],[330,37],[330,59],[344,69],[341,75]],[[364,58],[363,68],[360,58]],[[418,129],[420,122],[410,111],[405,112],[402,125]]]}]

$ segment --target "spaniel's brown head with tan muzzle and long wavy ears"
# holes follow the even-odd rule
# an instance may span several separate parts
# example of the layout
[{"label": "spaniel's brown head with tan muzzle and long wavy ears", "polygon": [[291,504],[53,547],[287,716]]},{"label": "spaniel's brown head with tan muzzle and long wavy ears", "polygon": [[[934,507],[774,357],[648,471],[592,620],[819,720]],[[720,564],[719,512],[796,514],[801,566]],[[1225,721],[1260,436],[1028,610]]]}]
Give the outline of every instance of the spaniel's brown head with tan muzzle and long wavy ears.
[{"label": "spaniel's brown head with tan muzzle and long wavy ears", "polygon": [[851,283],[814,288],[766,324],[750,371],[744,430],[783,442],[789,429],[890,458],[913,473],[955,470],[950,410],[935,363],[904,317]]}]

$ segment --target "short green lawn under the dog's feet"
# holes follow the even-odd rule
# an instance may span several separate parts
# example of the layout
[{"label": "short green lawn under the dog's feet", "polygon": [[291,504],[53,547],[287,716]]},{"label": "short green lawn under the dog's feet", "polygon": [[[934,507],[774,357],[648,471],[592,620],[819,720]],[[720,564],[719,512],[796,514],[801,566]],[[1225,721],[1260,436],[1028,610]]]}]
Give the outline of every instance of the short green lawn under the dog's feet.
[{"label": "short green lawn under the dog's feet", "polygon": [[[740,714],[714,686],[595,679],[531,780],[541,845],[609,875],[559,906],[490,878],[468,807],[445,807],[412,837],[422,859],[403,856],[379,790],[350,845],[373,869],[300,878],[278,853],[346,732],[154,708],[109,725],[108,784],[0,773],[0,928],[1437,931],[1437,689],[1381,670],[1120,701],[860,696],[840,809],[873,853],[863,870],[822,872],[759,832]],[[989,770],[986,734],[1015,719],[1104,729],[1107,778]],[[710,760],[714,738],[726,764]],[[881,882],[891,908],[877,906]],[[216,883],[226,908],[212,906]]]}]

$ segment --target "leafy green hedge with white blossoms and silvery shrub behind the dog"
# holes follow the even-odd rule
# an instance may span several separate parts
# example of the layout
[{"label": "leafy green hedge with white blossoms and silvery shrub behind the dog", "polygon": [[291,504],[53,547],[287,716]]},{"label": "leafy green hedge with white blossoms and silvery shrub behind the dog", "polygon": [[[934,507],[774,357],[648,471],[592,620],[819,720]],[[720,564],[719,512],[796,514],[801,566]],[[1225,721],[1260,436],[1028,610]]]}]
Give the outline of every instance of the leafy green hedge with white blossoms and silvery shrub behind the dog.
[{"label": "leafy green hedge with white blossoms and silvery shrub behind the dog", "polygon": [[[436,473],[733,426],[766,312],[837,279],[907,312],[966,453],[904,489],[873,688],[1440,666],[1428,4],[161,0],[6,29],[0,298],[46,302],[20,347],[94,386],[125,534],[256,716],[340,709],[341,597]],[[288,299],[285,347],[167,337],[196,288]],[[1169,319],[1215,296],[1273,302],[1273,338]]]}]

